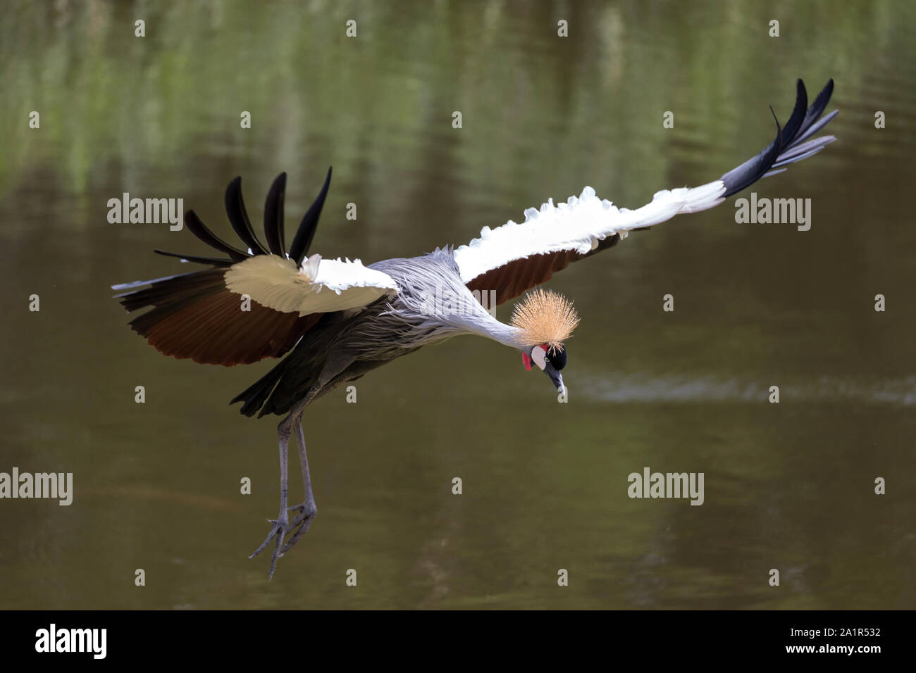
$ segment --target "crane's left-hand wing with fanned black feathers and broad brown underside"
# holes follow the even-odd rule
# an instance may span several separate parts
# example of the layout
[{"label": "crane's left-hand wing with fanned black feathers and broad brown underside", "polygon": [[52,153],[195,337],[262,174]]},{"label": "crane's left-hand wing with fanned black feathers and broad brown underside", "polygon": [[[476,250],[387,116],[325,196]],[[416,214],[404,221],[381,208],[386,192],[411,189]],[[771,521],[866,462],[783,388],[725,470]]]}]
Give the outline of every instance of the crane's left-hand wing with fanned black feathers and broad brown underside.
[{"label": "crane's left-hand wing with fanned black feathers and broad brown underside", "polygon": [[[129,312],[152,307],[130,326],[159,353],[198,363],[254,363],[289,351],[322,313],[365,306],[397,292],[391,277],[359,260],[311,255],[305,259],[331,184],[331,170],[298,232],[284,250],[283,196],[286,173],[274,180],[264,208],[267,246],[258,241],[242,200],[242,179],[226,188],[229,222],[246,250],[225,243],[193,212],[185,224],[225,257],[160,255],[211,265],[187,274],[112,286]],[[244,296],[251,299],[243,301]]]}]

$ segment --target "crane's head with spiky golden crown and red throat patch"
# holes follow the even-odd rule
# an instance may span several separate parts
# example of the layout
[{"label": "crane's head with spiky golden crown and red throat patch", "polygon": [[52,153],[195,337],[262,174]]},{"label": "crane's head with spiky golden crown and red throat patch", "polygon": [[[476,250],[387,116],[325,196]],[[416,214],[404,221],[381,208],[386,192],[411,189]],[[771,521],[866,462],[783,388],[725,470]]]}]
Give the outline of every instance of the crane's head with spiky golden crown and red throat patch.
[{"label": "crane's head with spiky golden crown and red throat patch", "polygon": [[579,316],[573,303],[556,292],[535,289],[512,313],[512,326],[518,329],[521,359],[525,369],[532,364],[551,379],[557,390],[563,388],[560,373],[566,366],[566,347]]}]

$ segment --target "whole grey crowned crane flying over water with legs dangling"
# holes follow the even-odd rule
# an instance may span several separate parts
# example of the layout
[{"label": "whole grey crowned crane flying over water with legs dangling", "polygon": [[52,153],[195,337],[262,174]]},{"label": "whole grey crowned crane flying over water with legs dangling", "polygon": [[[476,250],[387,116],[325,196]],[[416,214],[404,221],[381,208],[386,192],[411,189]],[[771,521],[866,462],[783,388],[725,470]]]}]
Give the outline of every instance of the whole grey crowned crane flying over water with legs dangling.
[{"label": "whole grey crowned crane flying over water with legs dangling", "polygon": [[[131,320],[131,328],[160,353],[198,363],[248,364],[286,354],[254,385],[234,398],[245,416],[283,416],[278,426],[280,505],[270,519],[267,539],[276,538],[269,574],[309,530],[317,510],[302,434],[303,410],[338,385],[422,346],[458,334],[493,339],[522,354],[562,390],[566,364],[563,342],[578,322],[572,304],[550,291],[534,289],[516,307],[509,323],[496,320],[480,303],[481,292],[496,304],[537,288],[573,262],[613,247],[627,233],[670,220],[683,212],[712,208],[760,178],[811,157],[834,136],[812,138],[837,114],[822,118],[834,90],[827,82],[809,107],[798,81],[788,123],[776,122],[776,137],[756,157],[699,187],[663,190],[637,210],[617,208],[586,187],[565,203],[544,203],[525,212],[523,223],[485,227],[480,238],[428,255],[387,259],[363,266],[359,260],[308,256],[331,182],[328,171],[318,198],[302,218],[287,250],[283,232],[286,174],[274,181],[264,208],[262,244],[242,201],[241,179],[229,183],[225,208],[242,241],[224,242],[194,214],[188,229],[225,256],[177,255],[209,266],[190,273],[113,286],[125,309],[151,307]],[[775,118],[775,114],[774,114]],[[474,295],[477,291],[477,296]],[[447,297],[448,309],[442,301]],[[288,506],[287,447],[295,431],[305,500]],[[295,516],[290,518],[290,513]]]}]

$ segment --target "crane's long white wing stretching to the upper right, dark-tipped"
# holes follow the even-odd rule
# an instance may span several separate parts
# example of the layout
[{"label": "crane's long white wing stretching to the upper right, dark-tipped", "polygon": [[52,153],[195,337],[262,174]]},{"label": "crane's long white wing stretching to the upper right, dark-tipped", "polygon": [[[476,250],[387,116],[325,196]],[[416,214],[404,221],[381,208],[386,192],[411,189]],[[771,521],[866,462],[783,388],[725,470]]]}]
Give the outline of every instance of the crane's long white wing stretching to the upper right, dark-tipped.
[{"label": "crane's long white wing stretching to the upper right, dark-tipped", "polygon": [[717,206],[758,179],[781,173],[785,170],[781,167],[811,157],[832,143],[834,136],[809,138],[836,116],[838,111],[821,118],[833,92],[831,80],[808,107],[808,95],[799,80],[795,108],[784,128],[776,122],[773,142],[713,182],[656,192],[651,202],[635,211],[598,199],[586,187],[578,198],[571,196],[565,203],[554,205],[550,200],[540,210],[529,208],[523,223],[485,227],[480,238],[455,248],[463,281],[472,290],[496,290],[496,303],[501,304],[546,282],[573,262],[616,245],[631,231],[682,212]]}]

